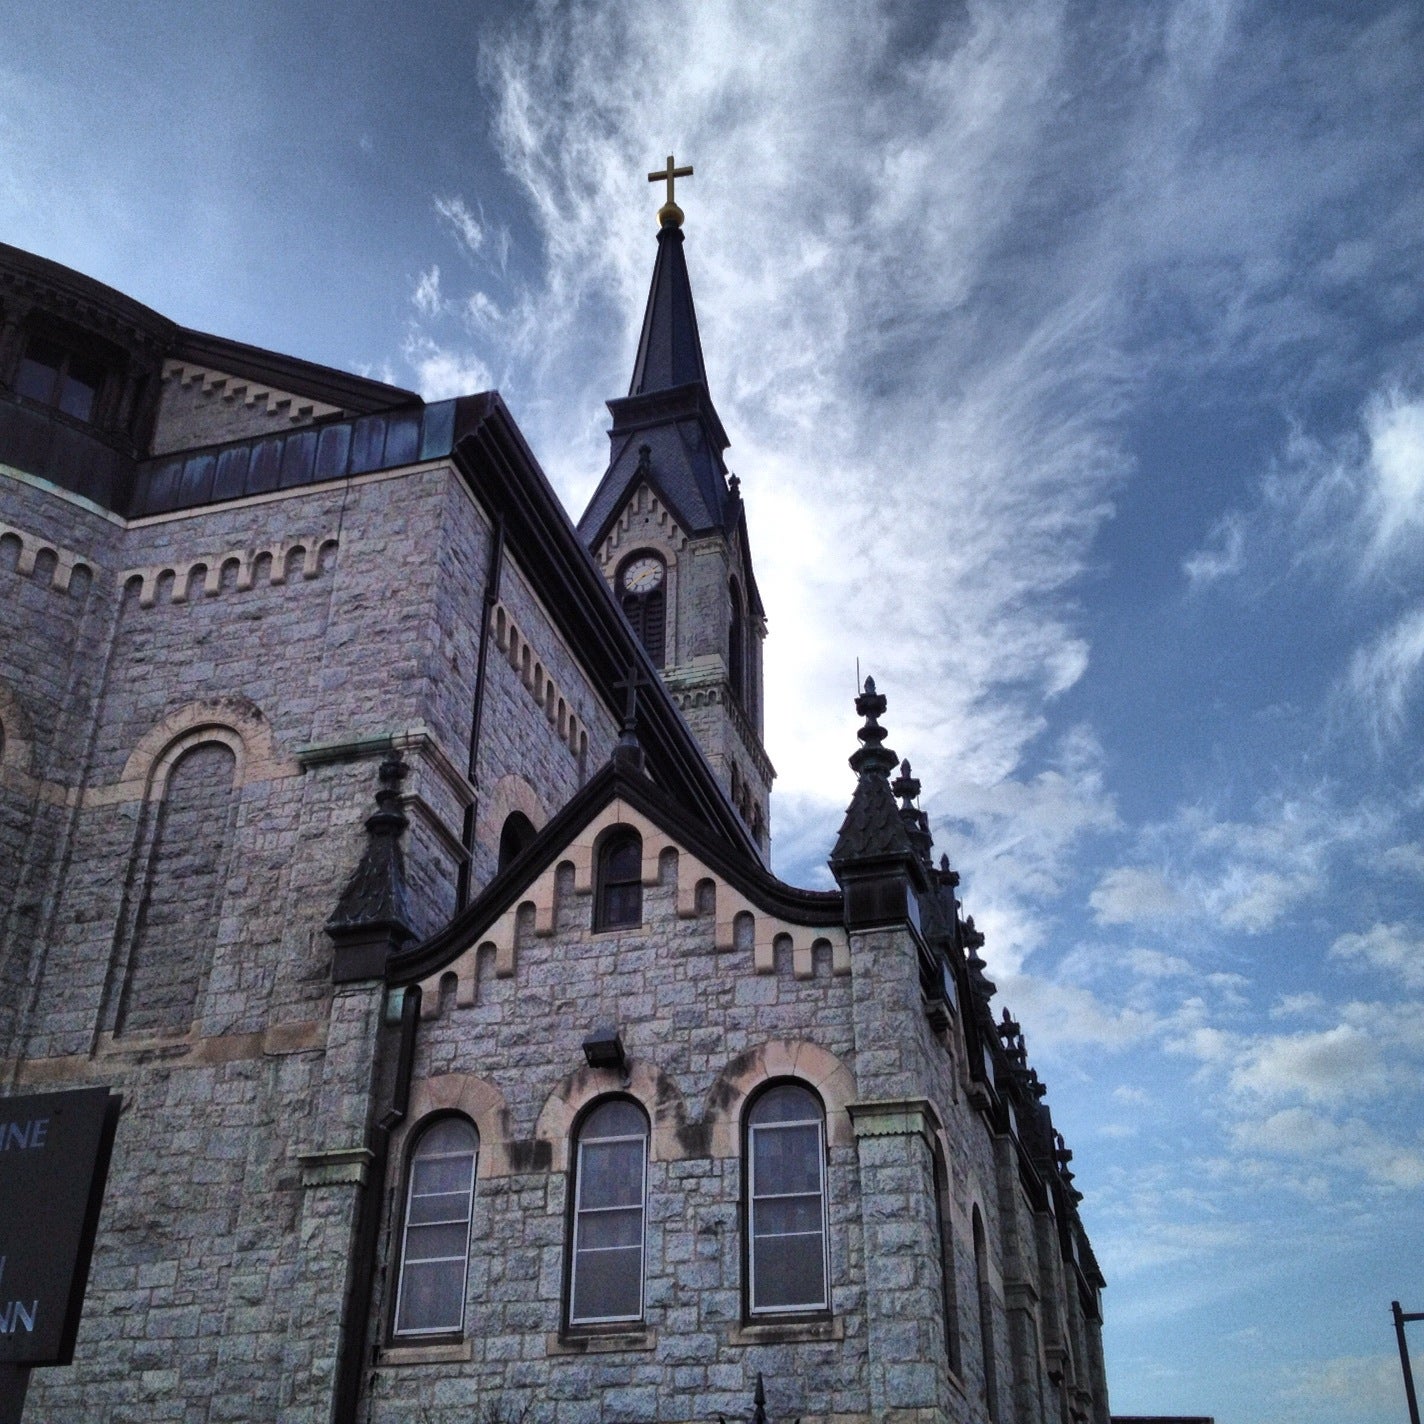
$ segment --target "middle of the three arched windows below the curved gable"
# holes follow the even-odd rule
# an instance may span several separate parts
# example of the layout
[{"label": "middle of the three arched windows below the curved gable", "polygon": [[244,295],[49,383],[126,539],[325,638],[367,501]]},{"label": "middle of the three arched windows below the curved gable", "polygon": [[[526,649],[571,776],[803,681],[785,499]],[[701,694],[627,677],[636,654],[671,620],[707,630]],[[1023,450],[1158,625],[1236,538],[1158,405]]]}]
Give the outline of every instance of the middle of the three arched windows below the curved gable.
[{"label": "middle of the three arched windows below the curved gable", "polygon": [[578,1129],[568,1323],[642,1319],[648,1119],[627,1098],[601,1102]]}]

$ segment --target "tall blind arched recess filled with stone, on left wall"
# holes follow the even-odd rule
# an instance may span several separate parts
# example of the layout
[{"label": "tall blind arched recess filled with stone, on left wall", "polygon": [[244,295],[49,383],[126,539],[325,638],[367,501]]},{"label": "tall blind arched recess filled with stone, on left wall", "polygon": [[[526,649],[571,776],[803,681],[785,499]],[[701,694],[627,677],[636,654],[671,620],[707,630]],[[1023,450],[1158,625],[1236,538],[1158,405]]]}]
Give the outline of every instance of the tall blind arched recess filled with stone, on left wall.
[{"label": "tall blind arched recess filled with stone, on left wall", "polygon": [[121,1034],[181,1032],[198,1017],[228,877],[239,752],[236,733],[209,728],[154,762],[130,881],[137,903],[115,1022]]}]

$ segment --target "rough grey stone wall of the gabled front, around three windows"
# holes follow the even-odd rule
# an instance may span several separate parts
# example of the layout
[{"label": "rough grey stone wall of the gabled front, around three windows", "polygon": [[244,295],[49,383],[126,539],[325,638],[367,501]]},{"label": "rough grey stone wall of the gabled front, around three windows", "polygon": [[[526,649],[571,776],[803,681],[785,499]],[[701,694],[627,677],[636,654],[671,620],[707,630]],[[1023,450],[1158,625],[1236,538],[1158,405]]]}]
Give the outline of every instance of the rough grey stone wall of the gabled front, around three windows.
[{"label": "rough grey stone wall of the gabled front, around three windows", "polygon": [[[478,951],[474,1001],[420,1027],[413,1111],[394,1143],[387,1200],[406,1145],[430,1111],[466,1111],[481,1132],[468,1299],[468,1358],[390,1349],[393,1222],[386,1222],[373,1339],[386,1346],[372,1420],[470,1417],[481,1404],[535,1401],[548,1421],[746,1417],[756,1371],[776,1418],[866,1420],[862,1220],[844,1104],[853,1092],[850,977],[830,947],[799,977],[792,947],[765,971],[749,940],[718,948],[726,913],[703,894],[678,913],[675,853],[648,867],[644,926],[592,933],[591,894],[561,877],[553,933],[523,917],[514,970]],[[731,894],[722,887],[723,896]],[[688,906],[684,906],[688,910]],[[819,931],[817,931],[819,933]],[[601,1350],[560,1341],[567,1161],[577,1112],[618,1092],[581,1044],[617,1024],[627,1091],[652,1122],[646,1330]],[[829,1205],[834,1317],[789,1329],[742,1324],[740,1108],[748,1092],[803,1075],[830,1108]],[[847,1339],[843,1341],[842,1336]],[[459,1351],[457,1351],[459,1353]]]}]

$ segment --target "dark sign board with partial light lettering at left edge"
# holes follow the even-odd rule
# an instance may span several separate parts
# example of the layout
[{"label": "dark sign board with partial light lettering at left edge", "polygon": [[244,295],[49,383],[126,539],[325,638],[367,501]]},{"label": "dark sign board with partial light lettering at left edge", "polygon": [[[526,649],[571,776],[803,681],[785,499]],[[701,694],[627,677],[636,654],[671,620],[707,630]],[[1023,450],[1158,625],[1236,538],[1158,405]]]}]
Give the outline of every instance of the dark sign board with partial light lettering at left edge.
[{"label": "dark sign board with partial light lettering at left edge", "polygon": [[0,1098],[0,1367],[68,1364],[120,1098]]}]

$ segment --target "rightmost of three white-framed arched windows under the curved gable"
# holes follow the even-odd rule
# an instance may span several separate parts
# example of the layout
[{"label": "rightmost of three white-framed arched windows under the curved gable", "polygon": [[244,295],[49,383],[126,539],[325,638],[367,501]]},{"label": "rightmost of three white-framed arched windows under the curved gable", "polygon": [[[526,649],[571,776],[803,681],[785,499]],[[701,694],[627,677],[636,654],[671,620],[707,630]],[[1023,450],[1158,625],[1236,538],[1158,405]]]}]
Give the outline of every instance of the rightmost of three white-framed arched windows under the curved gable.
[{"label": "rightmost of three white-framed arched windows under the curved gable", "polygon": [[830,1309],[826,1115],[807,1089],[779,1084],[746,1115],[748,1310]]}]

